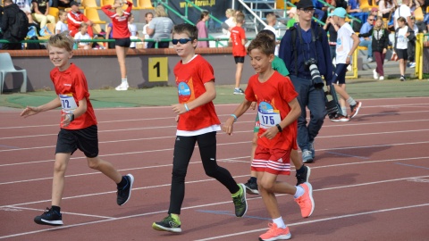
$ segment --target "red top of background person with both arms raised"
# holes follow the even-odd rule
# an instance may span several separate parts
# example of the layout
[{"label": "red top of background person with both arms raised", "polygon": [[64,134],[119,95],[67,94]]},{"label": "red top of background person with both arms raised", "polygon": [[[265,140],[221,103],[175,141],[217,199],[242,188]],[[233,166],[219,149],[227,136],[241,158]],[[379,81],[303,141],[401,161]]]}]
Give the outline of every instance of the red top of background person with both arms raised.
[{"label": "red top of background person with both arms raised", "polygon": [[127,2],[127,10],[123,12],[122,16],[119,16],[116,12],[111,12],[109,9],[112,8],[112,5],[105,5],[101,7],[101,10],[105,12],[109,18],[113,21],[113,31],[114,38],[125,38],[130,37],[130,30],[128,29],[128,18],[130,18],[130,12],[132,9],[132,3]]}]

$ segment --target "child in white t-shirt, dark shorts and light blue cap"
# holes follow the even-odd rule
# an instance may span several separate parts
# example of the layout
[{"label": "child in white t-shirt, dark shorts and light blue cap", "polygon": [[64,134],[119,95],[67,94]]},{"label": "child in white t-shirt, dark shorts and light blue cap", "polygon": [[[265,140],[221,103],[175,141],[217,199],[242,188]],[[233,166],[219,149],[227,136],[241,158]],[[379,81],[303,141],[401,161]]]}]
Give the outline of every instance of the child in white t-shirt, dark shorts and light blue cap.
[{"label": "child in white t-shirt, dark shorts and light blue cap", "polygon": [[[342,7],[337,7],[332,12],[332,18],[336,25],[340,26],[337,32],[337,46],[335,57],[335,72],[332,76],[332,86],[341,96],[339,103],[341,105],[341,115],[332,118],[332,121],[349,121],[357,115],[362,102],[355,101],[346,91],[346,71],[351,63],[353,53],[359,46],[359,37],[355,34],[348,22],[345,21],[347,12]],[[350,115],[347,114],[346,101],[350,105]]]}]

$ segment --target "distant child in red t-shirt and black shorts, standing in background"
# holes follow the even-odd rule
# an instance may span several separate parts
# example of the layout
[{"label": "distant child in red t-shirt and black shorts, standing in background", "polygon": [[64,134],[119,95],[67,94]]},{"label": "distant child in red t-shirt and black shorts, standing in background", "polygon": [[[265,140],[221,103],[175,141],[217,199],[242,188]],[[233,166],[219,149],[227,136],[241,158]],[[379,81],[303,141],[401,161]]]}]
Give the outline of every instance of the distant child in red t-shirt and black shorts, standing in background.
[{"label": "distant child in red t-shirt and black shorts, standing in background", "polygon": [[243,72],[244,58],[246,57],[246,33],[241,28],[244,23],[244,14],[237,13],[237,26],[231,29],[232,56],[235,60],[235,88],[234,95],[243,95],[244,91],[240,88],[241,73]]}]

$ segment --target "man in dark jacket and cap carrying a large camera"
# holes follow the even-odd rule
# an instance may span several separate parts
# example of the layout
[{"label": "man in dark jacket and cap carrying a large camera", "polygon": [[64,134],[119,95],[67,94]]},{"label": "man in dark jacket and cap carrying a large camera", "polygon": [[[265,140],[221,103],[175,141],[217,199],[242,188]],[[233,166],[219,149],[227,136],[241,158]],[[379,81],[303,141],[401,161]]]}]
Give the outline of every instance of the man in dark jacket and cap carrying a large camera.
[{"label": "man in dark jacket and cap carrying a large camera", "polygon": [[[303,162],[313,162],[315,137],[322,129],[326,116],[324,89],[315,88],[309,65],[305,62],[314,59],[326,83],[330,84],[332,79],[328,37],[324,29],[312,21],[314,12],[315,6],[311,0],[299,1],[297,4],[299,21],[286,31],[279,50],[279,57],[285,62],[293,86],[299,93],[297,99],[302,112],[298,119],[298,145],[302,151]],[[311,112],[308,124],[306,107]]]}]

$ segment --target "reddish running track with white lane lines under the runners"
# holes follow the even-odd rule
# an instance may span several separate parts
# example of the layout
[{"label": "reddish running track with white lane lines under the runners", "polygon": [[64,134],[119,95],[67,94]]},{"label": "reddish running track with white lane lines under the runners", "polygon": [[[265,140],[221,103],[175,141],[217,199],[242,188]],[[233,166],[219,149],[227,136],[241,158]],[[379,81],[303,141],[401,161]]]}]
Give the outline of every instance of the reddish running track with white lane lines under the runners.
[{"label": "reddish running track with white lane lines under the runners", "polygon": [[[315,212],[300,217],[290,195],[277,195],[296,240],[427,240],[429,229],[429,98],[367,99],[349,122],[325,121],[311,167]],[[221,121],[236,105],[216,105]],[[136,178],[130,202],[116,204],[115,185],[72,155],[66,173],[62,227],[33,218],[50,206],[59,112],[22,119],[0,112],[0,239],[257,240],[270,218],[260,196],[236,218],[231,195],[192,157],[181,234],[158,232],[166,215],[175,135],[171,107],[98,109],[100,156]],[[218,162],[238,182],[249,175],[255,111],[218,133]],[[292,176],[282,177],[295,183]]]}]

